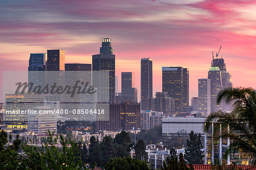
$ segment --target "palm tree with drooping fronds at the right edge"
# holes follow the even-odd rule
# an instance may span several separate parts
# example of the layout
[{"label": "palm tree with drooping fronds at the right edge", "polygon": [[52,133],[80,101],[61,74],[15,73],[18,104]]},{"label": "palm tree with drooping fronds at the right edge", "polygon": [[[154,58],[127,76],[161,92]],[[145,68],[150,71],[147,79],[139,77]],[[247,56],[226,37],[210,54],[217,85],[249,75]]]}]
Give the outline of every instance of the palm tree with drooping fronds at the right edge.
[{"label": "palm tree with drooping fronds at the right edge", "polygon": [[232,113],[221,111],[211,113],[205,121],[205,130],[211,122],[228,125],[222,137],[232,139],[226,152],[241,151],[250,156],[256,164],[256,92],[253,88],[226,88],[218,94],[217,103],[222,100],[233,103]]}]

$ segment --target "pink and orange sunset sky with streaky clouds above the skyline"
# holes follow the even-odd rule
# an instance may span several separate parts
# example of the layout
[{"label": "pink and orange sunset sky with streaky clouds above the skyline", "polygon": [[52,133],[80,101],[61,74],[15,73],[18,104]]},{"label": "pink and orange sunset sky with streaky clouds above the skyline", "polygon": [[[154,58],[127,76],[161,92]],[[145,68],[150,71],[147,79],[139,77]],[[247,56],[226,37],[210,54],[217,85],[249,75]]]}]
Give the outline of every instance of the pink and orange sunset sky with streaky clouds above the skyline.
[{"label": "pink and orange sunset sky with streaky clouds above the skyline", "polygon": [[162,66],[182,66],[189,98],[197,96],[197,80],[207,78],[220,45],[234,87],[256,88],[256,1],[0,2],[0,72],[27,70],[30,53],[47,49],[65,50],[66,63],[92,63],[110,37],[119,91],[121,72],[132,71],[140,93],[140,61],[150,57],[154,94],[162,91]]}]

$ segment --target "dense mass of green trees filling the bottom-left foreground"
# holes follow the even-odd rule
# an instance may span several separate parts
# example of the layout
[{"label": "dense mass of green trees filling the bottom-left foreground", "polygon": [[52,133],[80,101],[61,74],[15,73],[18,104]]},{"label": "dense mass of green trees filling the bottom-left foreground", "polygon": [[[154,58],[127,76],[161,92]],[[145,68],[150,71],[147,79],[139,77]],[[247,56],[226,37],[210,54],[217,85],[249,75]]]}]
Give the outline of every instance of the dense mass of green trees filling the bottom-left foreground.
[{"label": "dense mass of green trees filling the bottom-left foreground", "polygon": [[[85,143],[53,133],[48,134],[41,147],[27,143],[21,145],[18,138],[13,145],[8,145],[7,142],[7,133],[0,131],[0,169],[86,169],[88,163],[90,167],[97,165],[104,168],[115,157],[129,156],[133,146],[126,131],[122,131],[114,139],[105,136],[102,142],[92,136],[89,148]],[[59,142],[61,146],[58,145]],[[136,165],[138,161],[133,162]]]}]

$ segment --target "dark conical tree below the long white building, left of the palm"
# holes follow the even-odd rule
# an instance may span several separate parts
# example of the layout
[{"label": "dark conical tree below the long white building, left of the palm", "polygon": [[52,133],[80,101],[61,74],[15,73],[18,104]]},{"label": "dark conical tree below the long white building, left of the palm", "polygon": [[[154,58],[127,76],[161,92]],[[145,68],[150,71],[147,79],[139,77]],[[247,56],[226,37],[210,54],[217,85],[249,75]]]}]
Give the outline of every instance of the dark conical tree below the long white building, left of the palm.
[{"label": "dark conical tree below the long white building, left of the palm", "polygon": [[201,135],[198,136],[191,131],[189,134],[189,140],[187,140],[187,148],[185,148],[184,158],[190,164],[203,164],[203,149]]}]

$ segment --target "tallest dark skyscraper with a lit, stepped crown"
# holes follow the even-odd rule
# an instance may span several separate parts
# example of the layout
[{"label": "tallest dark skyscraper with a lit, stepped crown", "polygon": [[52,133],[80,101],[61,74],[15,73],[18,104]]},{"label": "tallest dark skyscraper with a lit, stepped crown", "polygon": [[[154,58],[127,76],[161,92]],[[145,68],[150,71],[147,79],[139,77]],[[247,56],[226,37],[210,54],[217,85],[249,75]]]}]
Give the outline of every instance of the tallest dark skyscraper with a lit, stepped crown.
[{"label": "tallest dark skyscraper with a lit, stepped crown", "polygon": [[[108,71],[108,75],[101,74],[100,82],[105,82],[105,79],[109,79],[109,83],[101,84],[100,89],[98,89],[98,97],[99,100],[104,100],[104,102],[113,103],[115,98],[115,55],[113,54],[113,48],[111,39],[104,38],[102,39],[102,47],[100,48],[100,54],[96,54],[92,56],[92,71]],[[93,75],[93,82],[94,75]],[[98,85],[93,83],[94,87]],[[106,94],[108,93],[108,94]]]}]

